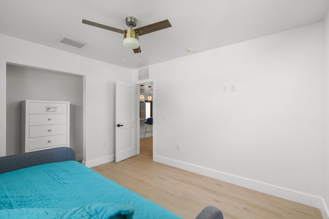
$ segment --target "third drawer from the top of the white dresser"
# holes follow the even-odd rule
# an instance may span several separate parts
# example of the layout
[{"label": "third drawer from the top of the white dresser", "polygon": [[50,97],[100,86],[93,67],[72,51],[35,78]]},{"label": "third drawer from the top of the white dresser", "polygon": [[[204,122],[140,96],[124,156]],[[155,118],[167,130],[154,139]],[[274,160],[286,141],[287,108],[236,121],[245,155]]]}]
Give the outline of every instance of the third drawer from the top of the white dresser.
[{"label": "third drawer from the top of the white dresser", "polygon": [[66,134],[66,124],[30,126],[29,137],[41,137],[49,135]]}]

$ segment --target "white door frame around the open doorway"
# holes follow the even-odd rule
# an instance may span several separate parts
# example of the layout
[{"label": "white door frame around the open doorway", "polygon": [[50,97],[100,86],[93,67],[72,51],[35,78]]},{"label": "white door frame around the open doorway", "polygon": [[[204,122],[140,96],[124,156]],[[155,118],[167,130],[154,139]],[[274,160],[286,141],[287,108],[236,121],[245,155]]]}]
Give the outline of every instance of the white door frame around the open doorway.
[{"label": "white door frame around the open doorway", "polygon": [[[152,83],[153,86],[153,99],[152,99],[152,117],[156,118],[156,92],[155,92],[155,79],[145,79],[142,81],[139,81],[138,83],[136,83],[136,120],[140,117],[140,112],[139,112],[139,93],[140,93],[140,85],[144,85],[144,84],[149,84]],[[155,138],[156,138],[156,119],[153,120],[153,125],[152,125],[152,129],[153,129],[153,140],[152,140],[152,160],[154,161],[154,156],[155,156]],[[136,154],[140,154],[140,145],[139,145],[139,141],[140,141],[140,122],[138,119],[138,122],[136,121]]]}]

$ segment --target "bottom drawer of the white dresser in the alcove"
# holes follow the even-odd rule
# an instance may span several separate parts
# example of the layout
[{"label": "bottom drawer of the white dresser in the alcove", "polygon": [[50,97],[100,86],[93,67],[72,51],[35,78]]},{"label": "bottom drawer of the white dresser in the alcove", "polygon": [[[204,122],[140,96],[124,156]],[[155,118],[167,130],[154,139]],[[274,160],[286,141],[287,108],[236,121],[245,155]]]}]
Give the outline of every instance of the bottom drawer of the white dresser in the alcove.
[{"label": "bottom drawer of the white dresser in the alcove", "polygon": [[63,145],[66,146],[66,134],[33,137],[29,139],[29,150]]}]

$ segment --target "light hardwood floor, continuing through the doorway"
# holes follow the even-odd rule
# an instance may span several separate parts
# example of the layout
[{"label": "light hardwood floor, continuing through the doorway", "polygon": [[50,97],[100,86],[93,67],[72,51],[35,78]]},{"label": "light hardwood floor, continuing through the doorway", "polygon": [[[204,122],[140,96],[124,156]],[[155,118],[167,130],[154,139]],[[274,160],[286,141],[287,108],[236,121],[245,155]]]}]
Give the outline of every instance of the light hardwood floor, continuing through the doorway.
[{"label": "light hardwood floor, continuing through the doorway", "polygon": [[220,208],[225,219],[323,218],[310,206],[153,162],[150,137],[141,141],[140,152],[92,169],[184,219],[195,218],[207,205]]}]

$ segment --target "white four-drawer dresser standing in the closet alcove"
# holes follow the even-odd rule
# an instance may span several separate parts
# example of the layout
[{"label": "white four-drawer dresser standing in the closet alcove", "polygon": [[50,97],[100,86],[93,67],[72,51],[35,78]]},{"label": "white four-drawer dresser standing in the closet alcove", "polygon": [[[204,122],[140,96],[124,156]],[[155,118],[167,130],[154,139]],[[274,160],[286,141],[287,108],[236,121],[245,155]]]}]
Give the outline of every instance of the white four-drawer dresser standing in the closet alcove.
[{"label": "white four-drawer dresser standing in the closet alcove", "polygon": [[21,153],[69,147],[70,102],[21,102]]}]

